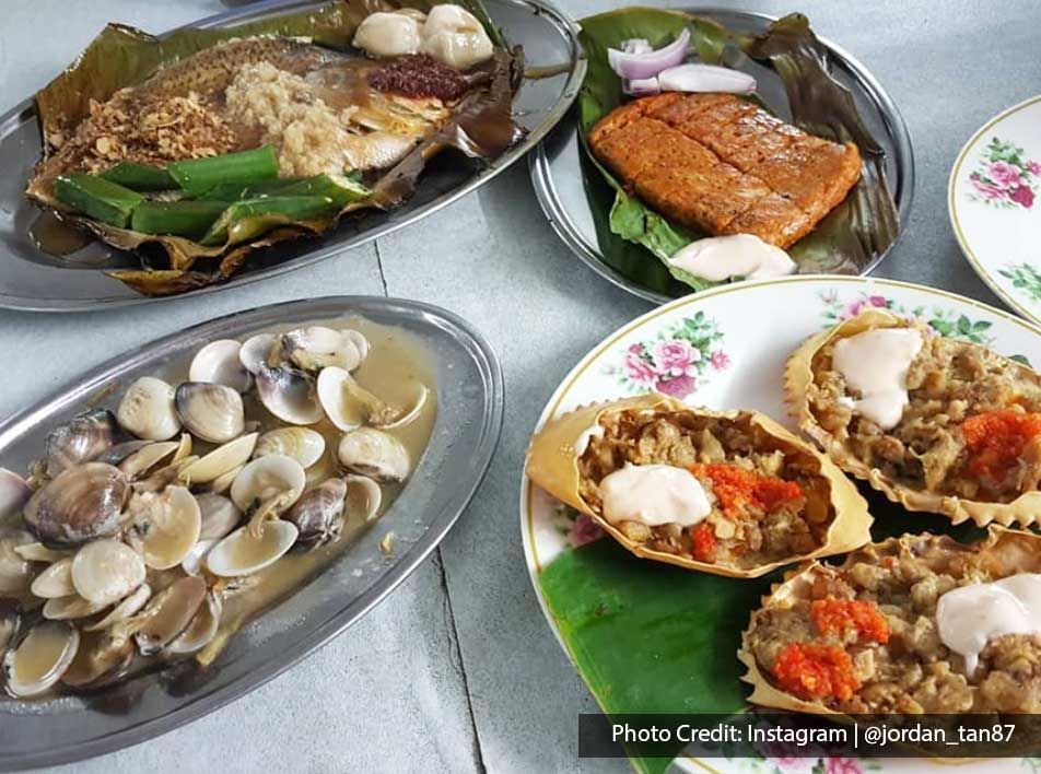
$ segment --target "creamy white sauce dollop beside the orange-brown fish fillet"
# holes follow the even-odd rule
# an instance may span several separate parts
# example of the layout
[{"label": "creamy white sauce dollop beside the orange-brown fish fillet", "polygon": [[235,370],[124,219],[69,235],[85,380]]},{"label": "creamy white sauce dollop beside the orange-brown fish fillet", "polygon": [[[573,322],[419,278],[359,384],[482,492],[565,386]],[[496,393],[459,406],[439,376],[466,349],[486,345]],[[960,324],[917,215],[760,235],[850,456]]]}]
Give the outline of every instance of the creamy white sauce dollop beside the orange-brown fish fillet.
[{"label": "creamy white sauce dollop beside the orange-brown fish fillet", "polygon": [[669,263],[710,282],[732,277],[762,280],[795,271],[795,261],[787,253],[753,234],[698,239],[674,253]]}]

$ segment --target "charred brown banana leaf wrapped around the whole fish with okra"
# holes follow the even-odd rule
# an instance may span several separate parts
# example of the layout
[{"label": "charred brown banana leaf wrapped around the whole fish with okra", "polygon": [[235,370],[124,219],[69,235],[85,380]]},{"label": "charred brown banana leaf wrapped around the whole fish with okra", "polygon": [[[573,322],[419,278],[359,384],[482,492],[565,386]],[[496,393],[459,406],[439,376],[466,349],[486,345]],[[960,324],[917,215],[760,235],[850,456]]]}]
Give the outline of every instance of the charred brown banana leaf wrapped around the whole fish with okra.
[{"label": "charred brown banana leaf wrapped around the whole fish with okra", "polygon": [[[110,275],[147,295],[180,293],[227,279],[260,247],[320,234],[354,210],[395,207],[412,195],[426,162],[444,149],[455,148],[478,159],[500,155],[522,133],[513,121],[512,103],[523,75],[523,54],[519,49],[505,48],[501,31],[492,24],[480,0],[453,1],[481,21],[496,44],[495,55],[467,73],[473,85],[453,108],[447,121],[424,137],[395,167],[369,180],[372,197],[317,221],[289,222],[270,215],[252,219],[239,225],[238,233],[255,234],[253,239],[246,244],[211,247],[184,237],[116,228],[69,212],[62,212],[62,220],[93,232],[115,247],[136,250],[142,256],[140,270],[112,271]],[[358,25],[370,13],[396,8],[425,12],[434,4],[431,0],[331,0],[317,9],[234,27],[182,28],[162,38],[109,24],[67,70],[36,95],[44,152],[26,194],[45,207],[61,210],[52,187],[54,178],[63,172],[59,168],[58,154],[75,127],[90,116],[91,103],[104,102],[119,90],[138,86],[153,77],[162,78],[166,72],[164,68],[184,63],[196,55],[206,56],[206,50],[217,44],[256,36],[266,36],[268,43],[274,37],[283,48],[297,46],[360,56],[352,51],[350,44]],[[319,48],[311,49],[311,44]],[[222,63],[213,60],[206,66],[214,71],[221,69]],[[164,83],[172,90],[189,87],[174,77]]]}]

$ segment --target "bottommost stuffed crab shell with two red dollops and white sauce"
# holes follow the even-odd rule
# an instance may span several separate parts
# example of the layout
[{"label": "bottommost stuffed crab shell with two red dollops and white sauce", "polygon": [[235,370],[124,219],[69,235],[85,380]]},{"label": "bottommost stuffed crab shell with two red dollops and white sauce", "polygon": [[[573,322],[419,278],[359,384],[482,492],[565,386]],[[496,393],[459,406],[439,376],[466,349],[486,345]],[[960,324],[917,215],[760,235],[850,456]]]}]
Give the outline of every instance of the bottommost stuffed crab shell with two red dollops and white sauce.
[{"label": "bottommost stuffed crab shell with two red dollops and white sauce", "polygon": [[815,562],[752,613],[738,658],[761,706],[1041,712],[1041,537],[904,536]]}]

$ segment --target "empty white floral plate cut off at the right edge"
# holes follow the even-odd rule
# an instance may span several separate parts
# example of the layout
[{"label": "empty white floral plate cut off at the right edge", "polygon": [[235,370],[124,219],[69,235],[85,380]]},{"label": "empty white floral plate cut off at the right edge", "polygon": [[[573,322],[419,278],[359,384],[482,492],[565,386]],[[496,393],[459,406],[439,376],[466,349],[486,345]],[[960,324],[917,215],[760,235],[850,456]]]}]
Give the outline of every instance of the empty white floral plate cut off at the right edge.
[{"label": "empty white floral plate cut off at the right edge", "polygon": [[966,143],[950,172],[947,208],[980,278],[1041,322],[1041,96],[992,118]]}]

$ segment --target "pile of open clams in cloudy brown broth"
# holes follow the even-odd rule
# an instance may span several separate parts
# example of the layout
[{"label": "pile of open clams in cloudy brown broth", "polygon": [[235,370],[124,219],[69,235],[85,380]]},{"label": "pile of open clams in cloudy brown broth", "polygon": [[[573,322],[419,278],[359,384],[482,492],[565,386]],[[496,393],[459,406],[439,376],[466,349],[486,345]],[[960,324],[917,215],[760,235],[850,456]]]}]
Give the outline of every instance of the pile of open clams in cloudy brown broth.
[{"label": "pile of open clams in cloudy brown broth", "polygon": [[323,320],[210,341],[51,427],[0,469],[7,692],[211,664],[375,528],[430,437],[426,363],[395,328]]}]

